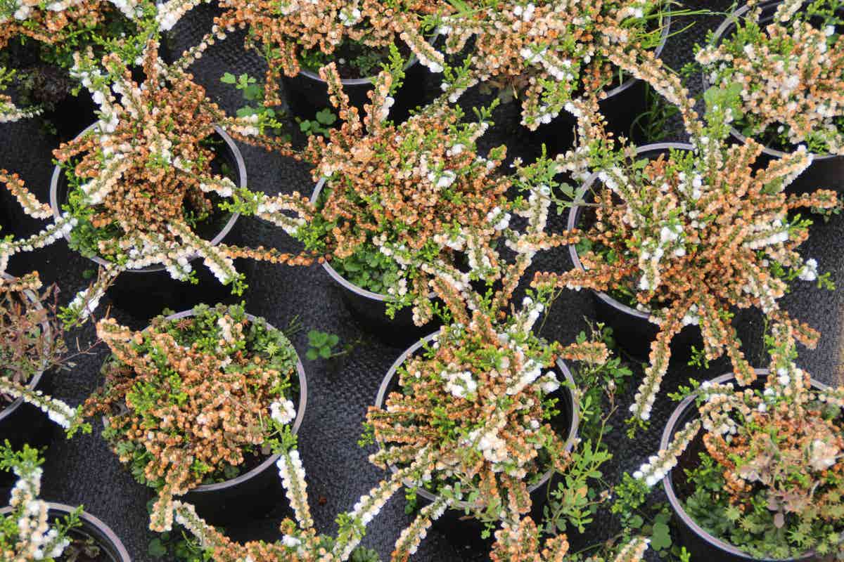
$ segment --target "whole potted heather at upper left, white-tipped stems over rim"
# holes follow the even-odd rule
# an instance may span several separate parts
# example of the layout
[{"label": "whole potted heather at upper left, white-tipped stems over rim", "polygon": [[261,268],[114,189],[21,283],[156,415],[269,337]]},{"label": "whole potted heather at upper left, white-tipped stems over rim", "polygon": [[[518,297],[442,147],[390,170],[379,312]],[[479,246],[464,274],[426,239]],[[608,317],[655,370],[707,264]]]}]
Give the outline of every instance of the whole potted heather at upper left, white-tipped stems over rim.
[{"label": "whole potted heather at upper left, white-tipped stems over rim", "polygon": [[[284,149],[282,143],[262,136],[265,126],[277,125],[274,120],[267,115],[225,115],[190,74],[160,62],[154,42],[147,45],[145,81],[140,84],[117,56],[107,55],[100,64],[78,53],[75,61],[73,72],[100,104],[100,119],[55,151],[54,222],[31,238],[3,245],[3,256],[8,256],[41,248],[63,235],[73,249],[100,259],[98,281],[71,302],[68,316],[89,314],[93,308],[82,307],[82,302],[95,305],[122,272],[150,275],[134,275],[122,285],[118,281],[114,292],[114,297],[122,296],[123,307],[141,307],[138,313],[146,314],[156,304],[184,305],[203,298],[202,293],[177,290],[166,282],[197,283],[195,258],[236,294],[245,285],[235,270],[235,258],[289,258],[272,249],[220,243],[237,216],[226,199],[246,181],[232,138]],[[16,176],[6,185],[13,193],[25,190]],[[41,204],[26,193],[24,211],[41,217]],[[208,291],[213,292],[213,286],[203,283]],[[139,291],[145,299],[137,298]]]}]

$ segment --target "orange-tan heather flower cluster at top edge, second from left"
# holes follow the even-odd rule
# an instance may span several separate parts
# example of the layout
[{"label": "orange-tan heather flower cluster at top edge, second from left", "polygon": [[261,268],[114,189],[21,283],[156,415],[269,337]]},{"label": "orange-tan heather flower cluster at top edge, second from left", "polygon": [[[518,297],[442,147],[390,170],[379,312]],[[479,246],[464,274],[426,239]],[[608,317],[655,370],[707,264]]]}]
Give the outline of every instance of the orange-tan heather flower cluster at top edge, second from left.
[{"label": "orange-tan heather flower cluster at top edge, second from left", "polygon": [[[195,0],[170,0],[161,8],[159,21],[169,29]],[[383,51],[391,45],[407,45],[419,62],[432,72],[442,72],[442,56],[421,34],[421,20],[443,5],[438,0],[223,0],[223,13],[214,19],[214,29],[192,53],[201,53],[215,40],[235,29],[248,29],[246,47],[266,59],[265,103],[280,104],[279,78],[300,72],[302,56],[318,50],[332,56],[344,45],[360,45]],[[386,62],[386,60],[385,60]],[[365,78],[365,77],[351,77]]]}]

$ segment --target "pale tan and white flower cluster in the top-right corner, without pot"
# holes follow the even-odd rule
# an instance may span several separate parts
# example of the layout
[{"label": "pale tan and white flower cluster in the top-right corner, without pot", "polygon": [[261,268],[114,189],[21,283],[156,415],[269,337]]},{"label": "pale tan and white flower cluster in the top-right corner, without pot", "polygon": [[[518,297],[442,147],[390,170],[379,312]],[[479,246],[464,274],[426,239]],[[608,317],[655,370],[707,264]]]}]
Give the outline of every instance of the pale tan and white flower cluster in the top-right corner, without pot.
[{"label": "pale tan and white flower cluster in the top-right corner, without pot", "polygon": [[753,8],[733,35],[698,51],[710,83],[735,91],[744,134],[784,150],[808,144],[813,153],[844,154],[844,35],[817,29],[803,0],[780,3],[769,24],[760,15]]}]

